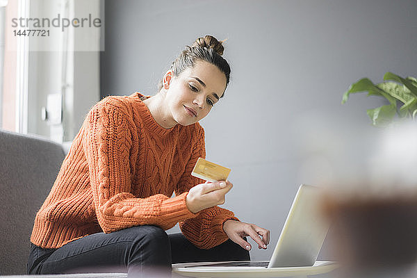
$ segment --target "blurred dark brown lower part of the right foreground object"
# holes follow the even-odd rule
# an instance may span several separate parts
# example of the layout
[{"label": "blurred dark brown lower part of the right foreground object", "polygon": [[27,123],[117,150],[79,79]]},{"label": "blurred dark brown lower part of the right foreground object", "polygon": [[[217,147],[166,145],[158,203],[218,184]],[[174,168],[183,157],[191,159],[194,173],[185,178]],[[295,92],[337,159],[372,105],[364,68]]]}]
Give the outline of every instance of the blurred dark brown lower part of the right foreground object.
[{"label": "blurred dark brown lower part of the right foreground object", "polygon": [[337,199],[325,213],[336,228],[336,250],[343,264],[373,268],[417,259],[417,196]]}]

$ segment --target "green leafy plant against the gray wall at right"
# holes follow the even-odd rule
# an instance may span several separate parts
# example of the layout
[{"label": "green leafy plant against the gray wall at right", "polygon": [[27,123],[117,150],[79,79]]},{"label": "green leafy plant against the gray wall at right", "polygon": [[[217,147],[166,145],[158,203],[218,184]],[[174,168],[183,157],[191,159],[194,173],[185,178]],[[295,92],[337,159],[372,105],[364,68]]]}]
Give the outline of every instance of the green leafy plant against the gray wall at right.
[{"label": "green leafy plant against the gray wall at right", "polygon": [[[390,124],[395,114],[400,118],[417,117],[417,79],[414,77],[402,78],[397,74],[387,72],[384,75],[383,83],[374,84],[370,79],[363,78],[350,85],[342,99],[344,104],[349,95],[355,92],[368,92],[368,96],[376,95],[384,97],[389,104],[373,109],[368,109],[367,113],[374,126],[386,126]],[[401,106],[398,106],[398,103]]]}]

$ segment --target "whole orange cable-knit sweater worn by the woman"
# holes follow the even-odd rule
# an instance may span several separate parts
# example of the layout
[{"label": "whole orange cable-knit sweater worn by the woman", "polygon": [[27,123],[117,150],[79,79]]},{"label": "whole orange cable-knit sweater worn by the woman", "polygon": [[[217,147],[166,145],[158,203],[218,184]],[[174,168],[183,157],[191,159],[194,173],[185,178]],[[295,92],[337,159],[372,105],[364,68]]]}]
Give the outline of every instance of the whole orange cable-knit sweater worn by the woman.
[{"label": "whole orange cable-knit sweater worn by the woman", "polygon": [[[77,238],[143,224],[182,233],[197,247],[223,243],[234,214],[214,206],[188,211],[186,195],[203,183],[190,175],[205,157],[198,123],[160,126],[136,92],[106,97],[92,107],[36,214],[31,242],[58,248]],[[175,193],[175,197],[172,197]]]}]

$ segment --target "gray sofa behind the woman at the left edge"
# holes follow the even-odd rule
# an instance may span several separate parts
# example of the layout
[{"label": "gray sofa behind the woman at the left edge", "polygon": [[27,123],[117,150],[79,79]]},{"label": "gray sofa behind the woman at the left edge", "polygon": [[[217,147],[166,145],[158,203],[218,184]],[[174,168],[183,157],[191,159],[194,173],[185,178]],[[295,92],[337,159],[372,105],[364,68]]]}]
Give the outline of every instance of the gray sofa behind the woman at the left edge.
[{"label": "gray sofa behind the woman at the left edge", "polygon": [[[26,275],[35,214],[54,184],[65,149],[51,140],[0,129],[0,275]],[[13,276],[15,277],[15,276]],[[126,277],[83,273],[35,277]]]}]

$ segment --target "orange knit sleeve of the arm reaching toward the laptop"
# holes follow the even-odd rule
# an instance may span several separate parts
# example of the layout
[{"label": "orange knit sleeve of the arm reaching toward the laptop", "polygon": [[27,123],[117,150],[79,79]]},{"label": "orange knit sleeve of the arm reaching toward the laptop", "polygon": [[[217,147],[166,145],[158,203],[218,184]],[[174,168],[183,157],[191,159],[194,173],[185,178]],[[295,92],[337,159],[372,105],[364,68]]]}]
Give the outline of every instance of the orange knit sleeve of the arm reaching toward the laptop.
[{"label": "orange knit sleeve of the arm reaching toward the laptop", "polygon": [[[183,172],[177,185],[176,194],[181,195],[193,186],[205,182],[202,179],[191,176],[193,167],[199,157],[206,158],[204,129],[202,128],[199,131],[190,160],[186,164],[186,170]],[[227,234],[223,230],[223,223],[229,219],[238,220],[231,211],[213,206],[200,211],[195,218],[179,222],[179,227],[183,235],[195,246],[201,249],[210,249],[224,243],[228,239]]]}]

